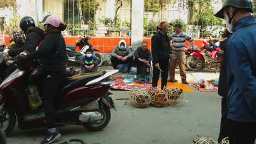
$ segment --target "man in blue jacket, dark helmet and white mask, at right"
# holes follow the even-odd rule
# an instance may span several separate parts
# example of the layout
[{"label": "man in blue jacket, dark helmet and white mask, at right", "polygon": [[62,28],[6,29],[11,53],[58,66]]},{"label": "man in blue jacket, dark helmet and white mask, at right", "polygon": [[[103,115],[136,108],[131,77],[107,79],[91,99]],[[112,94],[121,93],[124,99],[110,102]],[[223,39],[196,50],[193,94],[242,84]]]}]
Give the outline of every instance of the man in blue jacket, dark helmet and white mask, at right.
[{"label": "man in blue jacket, dark helmet and white mask, at right", "polygon": [[226,44],[229,143],[256,138],[256,20],[251,0],[225,0],[215,16],[234,32]]}]

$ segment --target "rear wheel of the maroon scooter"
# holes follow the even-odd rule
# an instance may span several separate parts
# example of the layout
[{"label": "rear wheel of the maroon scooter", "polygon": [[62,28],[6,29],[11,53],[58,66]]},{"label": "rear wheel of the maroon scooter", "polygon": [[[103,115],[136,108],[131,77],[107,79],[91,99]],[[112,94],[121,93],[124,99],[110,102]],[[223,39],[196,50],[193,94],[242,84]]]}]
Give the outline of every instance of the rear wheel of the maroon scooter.
[{"label": "rear wheel of the maroon scooter", "polygon": [[103,111],[101,112],[101,114],[102,114],[102,118],[100,122],[86,123],[84,124],[84,127],[90,131],[99,131],[107,127],[111,118],[111,113],[110,113],[109,107],[106,104],[103,104]]}]

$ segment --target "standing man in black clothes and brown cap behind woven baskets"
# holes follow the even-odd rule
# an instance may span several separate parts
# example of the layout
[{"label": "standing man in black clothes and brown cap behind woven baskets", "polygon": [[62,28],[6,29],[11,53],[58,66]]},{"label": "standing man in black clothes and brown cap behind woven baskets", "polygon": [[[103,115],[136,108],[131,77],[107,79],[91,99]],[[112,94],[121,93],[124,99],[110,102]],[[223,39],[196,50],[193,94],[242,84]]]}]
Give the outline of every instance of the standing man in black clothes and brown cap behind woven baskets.
[{"label": "standing man in black clothes and brown cap behind woven baskets", "polygon": [[161,89],[166,86],[168,79],[169,55],[171,54],[170,38],[167,36],[169,24],[161,22],[157,27],[158,33],[151,38],[152,57],[153,57],[153,82],[152,86],[158,86],[159,74],[161,71]]}]

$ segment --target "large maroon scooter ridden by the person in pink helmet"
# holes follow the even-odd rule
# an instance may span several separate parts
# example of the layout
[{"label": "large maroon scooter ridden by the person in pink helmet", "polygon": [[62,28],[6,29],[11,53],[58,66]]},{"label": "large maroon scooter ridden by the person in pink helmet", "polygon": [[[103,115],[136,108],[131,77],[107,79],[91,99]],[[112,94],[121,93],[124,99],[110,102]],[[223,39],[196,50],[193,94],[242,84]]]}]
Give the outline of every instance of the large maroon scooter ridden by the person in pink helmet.
[{"label": "large maroon scooter ridden by the person in pink helmet", "polygon": [[[25,55],[24,52],[22,54]],[[0,123],[7,135],[13,131],[16,117],[20,129],[43,127],[47,123],[43,107],[31,112],[24,91],[32,73],[31,67],[36,67],[36,62],[14,63],[18,69],[0,84]],[[110,108],[116,111],[108,92],[114,83],[110,77],[115,73],[118,70],[67,77],[54,100],[56,123],[82,125],[90,131],[107,127],[111,118]]]}]

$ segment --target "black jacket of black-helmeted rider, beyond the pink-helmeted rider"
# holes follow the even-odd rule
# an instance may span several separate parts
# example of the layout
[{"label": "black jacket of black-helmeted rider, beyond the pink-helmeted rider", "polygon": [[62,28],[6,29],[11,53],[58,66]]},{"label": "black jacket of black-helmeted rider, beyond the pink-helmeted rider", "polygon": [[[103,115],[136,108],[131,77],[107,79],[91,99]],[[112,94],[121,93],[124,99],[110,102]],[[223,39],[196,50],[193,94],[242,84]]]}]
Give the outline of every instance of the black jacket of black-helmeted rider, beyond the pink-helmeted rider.
[{"label": "black jacket of black-helmeted rider, beyond the pink-helmeted rider", "polygon": [[9,50],[8,55],[11,57],[15,57],[22,51],[33,52],[36,50],[36,47],[40,44],[40,42],[44,39],[44,31],[39,27],[32,27],[26,33],[25,44],[19,49]]}]

